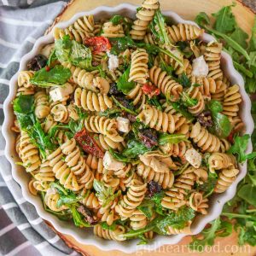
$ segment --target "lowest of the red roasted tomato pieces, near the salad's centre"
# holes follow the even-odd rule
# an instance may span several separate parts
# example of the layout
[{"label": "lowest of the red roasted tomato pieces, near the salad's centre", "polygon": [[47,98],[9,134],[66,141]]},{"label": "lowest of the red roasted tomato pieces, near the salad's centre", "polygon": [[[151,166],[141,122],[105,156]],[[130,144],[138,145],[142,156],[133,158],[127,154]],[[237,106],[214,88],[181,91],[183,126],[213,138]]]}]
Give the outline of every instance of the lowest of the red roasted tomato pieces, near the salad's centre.
[{"label": "lowest of the red roasted tomato pieces, near the salad's centre", "polygon": [[103,158],[104,154],[102,149],[98,146],[94,138],[90,137],[90,134],[85,129],[78,131],[75,134],[74,139],[86,153],[95,155],[98,158]]}]

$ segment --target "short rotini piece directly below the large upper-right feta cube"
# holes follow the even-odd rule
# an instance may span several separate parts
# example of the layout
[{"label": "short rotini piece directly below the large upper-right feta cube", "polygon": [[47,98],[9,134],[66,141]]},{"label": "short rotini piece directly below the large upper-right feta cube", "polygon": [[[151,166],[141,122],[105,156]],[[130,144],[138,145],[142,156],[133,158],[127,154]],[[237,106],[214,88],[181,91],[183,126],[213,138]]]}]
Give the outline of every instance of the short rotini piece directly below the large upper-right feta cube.
[{"label": "short rotini piece directly below the large upper-right feta cube", "polygon": [[201,91],[201,94],[207,98],[211,99],[212,93],[214,94],[216,92],[216,82],[212,78],[199,78],[192,76],[190,78],[191,84],[201,84],[201,86],[198,86],[199,90]]}]

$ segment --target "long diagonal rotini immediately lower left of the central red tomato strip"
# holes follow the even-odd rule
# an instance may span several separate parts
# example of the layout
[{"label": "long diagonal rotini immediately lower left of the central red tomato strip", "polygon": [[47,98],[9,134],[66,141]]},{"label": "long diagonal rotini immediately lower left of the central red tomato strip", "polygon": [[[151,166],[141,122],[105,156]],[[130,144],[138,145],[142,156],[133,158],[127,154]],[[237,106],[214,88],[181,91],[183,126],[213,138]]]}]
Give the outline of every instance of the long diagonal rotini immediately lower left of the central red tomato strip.
[{"label": "long diagonal rotini immediately lower left of the central red tomato strip", "polygon": [[79,184],[84,184],[86,189],[91,189],[94,176],[90,171],[90,167],[86,165],[75,139],[72,138],[66,143],[63,143],[61,145],[61,151],[66,155],[65,162],[67,166],[79,178]]}]

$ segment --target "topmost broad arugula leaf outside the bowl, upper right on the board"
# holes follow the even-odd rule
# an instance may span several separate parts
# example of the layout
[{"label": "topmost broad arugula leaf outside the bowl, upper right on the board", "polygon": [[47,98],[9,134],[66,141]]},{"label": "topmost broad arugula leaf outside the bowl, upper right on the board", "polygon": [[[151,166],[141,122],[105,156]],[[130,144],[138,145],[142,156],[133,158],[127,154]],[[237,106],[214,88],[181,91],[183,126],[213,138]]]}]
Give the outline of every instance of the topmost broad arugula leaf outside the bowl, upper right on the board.
[{"label": "topmost broad arugula leaf outside the bowl, upper right on the board", "polygon": [[224,8],[220,9],[217,13],[212,14],[212,16],[216,18],[213,27],[218,32],[227,33],[235,29],[236,19],[231,11],[231,7],[233,6],[234,5],[224,6]]}]

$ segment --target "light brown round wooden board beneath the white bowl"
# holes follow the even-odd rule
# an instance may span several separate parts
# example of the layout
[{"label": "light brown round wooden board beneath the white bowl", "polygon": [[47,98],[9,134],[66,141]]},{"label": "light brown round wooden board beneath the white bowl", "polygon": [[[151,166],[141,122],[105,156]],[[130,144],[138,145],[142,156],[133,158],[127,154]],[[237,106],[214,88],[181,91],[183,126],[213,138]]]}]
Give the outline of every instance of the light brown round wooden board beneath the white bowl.
[{"label": "light brown round wooden board beneath the white bowl", "polygon": [[[254,0],[255,1],[255,0]],[[164,10],[172,10],[176,12],[178,15],[181,15],[185,20],[194,20],[195,16],[199,12],[206,12],[207,14],[212,14],[224,5],[230,5],[233,1],[232,0],[160,0],[161,9]],[[69,20],[78,12],[86,11],[90,9],[95,9],[97,6],[108,5],[108,6],[115,6],[119,3],[124,3],[121,0],[73,0],[71,3],[68,4],[67,8],[63,10],[63,12],[56,18],[55,23]],[[141,0],[126,0],[125,3],[132,3],[139,5]],[[253,26],[253,19],[254,14],[251,9],[248,9],[244,6],[240,1],[236,1],[236,7],[233,9],[234,15],[236,15],[236,20],[241,28],[249,33]],[[52,26],[51,26],[52,27]],[[51,28],[50,27],[50,28]],[[49,28],[49,30],[50,30]],[[86,232],[84,230],[84,232]],[[80,253],[84,255],[90,256],[125,256],[126,253],[121,253],[119,251],[111,251],[111,252],[104,252],[97,247],[88,246],[85,244],[80,244],[78,241],[75,241],[71,236],[65,236],[59,234],[61,238],[67,242],[69,247],[73,247]],[[179,242],[177,245],[166,245],[160,247],[155,252],[148,253],[147,251],[139,251],[137,253],[132,253],[130,255],[152,255],[152,256],[180,256],[189,255],[189,256],[197,256],[199,255],[198,252],[191,252],[189,251],[186,245],[191,241],[190,237],[186,237],[183,241]],[[237,246],[237,237],[236,234],[232,236],[225,237],[222,239],[217,239],[215,242],[215,246],[211,249],[207,250],[202,255],[218,255],[218,256],[227,256],[227,255],[235,255],[235,256],[243,256],[243,255],[255,255],[256,254],[256,247],[238,247]]]}]

